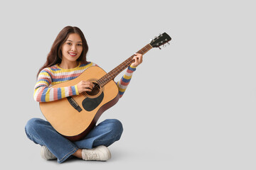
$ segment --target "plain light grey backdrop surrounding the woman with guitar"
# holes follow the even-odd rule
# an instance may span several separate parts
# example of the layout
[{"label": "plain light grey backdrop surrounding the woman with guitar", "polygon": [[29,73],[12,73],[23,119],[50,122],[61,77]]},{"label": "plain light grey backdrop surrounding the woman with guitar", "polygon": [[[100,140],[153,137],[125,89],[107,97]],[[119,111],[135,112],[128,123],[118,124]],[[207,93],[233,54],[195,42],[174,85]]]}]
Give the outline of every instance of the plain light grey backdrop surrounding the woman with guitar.
[{"label": "plain light grey backdrop surrounding the woman with guitar", "polygon": [[[253,1],[1,1],[1,166],[21,169],[255,169]],[[36,73],[56,35],[78,26],[106,72],[159,33],[123,98],[100,121],[124,125],[108,162],[41,159],[27,139]],[[117,77],[118,80],[122,74]]]}]

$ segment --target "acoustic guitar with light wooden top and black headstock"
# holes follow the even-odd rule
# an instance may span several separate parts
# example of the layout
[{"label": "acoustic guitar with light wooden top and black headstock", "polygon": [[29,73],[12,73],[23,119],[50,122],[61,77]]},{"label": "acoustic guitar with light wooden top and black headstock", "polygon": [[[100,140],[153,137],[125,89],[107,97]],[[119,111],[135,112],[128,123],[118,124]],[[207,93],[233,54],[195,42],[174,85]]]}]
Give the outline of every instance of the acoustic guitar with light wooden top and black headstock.
[{"label": "acoustic guitar with light wooden top and black headstock", "polygon": [[[160,34],[137,53],[144,55],[153,47],[165,46],[170,40],[171,37],[168,34]],[[83,92],[57,101],[39,103],[46,120],[68,140],[81,140],[94,128],[100,115],[119,100],[119,90],[114,77],[134,62],[133,57],[134,55],[109,73],[100,67],[92,66],[82,72],[79,77],[52,86],[53,88],[74,86],[82,80],[91,81],[95,85],[90,92]]]}]

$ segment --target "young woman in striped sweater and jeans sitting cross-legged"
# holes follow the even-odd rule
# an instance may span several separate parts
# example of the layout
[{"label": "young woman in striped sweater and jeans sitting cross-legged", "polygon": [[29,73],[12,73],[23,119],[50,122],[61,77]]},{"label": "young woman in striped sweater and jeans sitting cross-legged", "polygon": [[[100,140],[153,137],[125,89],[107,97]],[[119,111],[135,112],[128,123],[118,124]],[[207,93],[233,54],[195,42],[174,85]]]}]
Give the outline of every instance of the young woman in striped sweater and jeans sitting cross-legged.
[{"label": "young woman in striped sweater and jeans sitting cross-legged", "polygon": [[[67,26],[60,31],[53,42],[46,63],[38,71],[38,81],[34,89],[34,99],[38,102],[50,102],[68,96],[79,95],[84,91],[92,91],[90,81],[80,81],[75,86],[53,88],[51,86],[75,79],[85,69],[97,66],[87,62],[87,42],[82,31],[77,27]],[[119,97],[122,97],[132,78],[136,67],[142,63],[142,55],[135,54],[134,62],[127,68],[124,76],[117,82]],[[46,120],[33,118],[25,127],[30,140],[42,146],[43,159],[57,159],[65,162],[75,156],[83,160],[107,161],[110,150],[107,148],[122,135],[122,123],[116,119],[107,119],[93,128],[82,140],[70,142]]]}]

